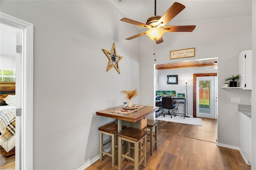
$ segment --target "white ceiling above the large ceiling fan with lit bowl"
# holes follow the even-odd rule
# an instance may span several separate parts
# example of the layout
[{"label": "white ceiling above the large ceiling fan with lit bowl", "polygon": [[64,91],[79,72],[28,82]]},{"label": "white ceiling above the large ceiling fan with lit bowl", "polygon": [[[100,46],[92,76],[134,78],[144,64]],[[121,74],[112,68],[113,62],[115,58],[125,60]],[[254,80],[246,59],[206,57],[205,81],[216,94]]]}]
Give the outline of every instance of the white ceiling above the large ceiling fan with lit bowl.
[{"label": "white ceiling above the large ceiling fan with lit bowl", "polygon": [[[154,16],[154,0],[122,0],[120,3],[110,0],[110,2],[131,20],[146,24],[146,20]],[[156,0],[156,15],[162,16],[174,2],[179,2],[186,8],[166,26],[171,26],[172,21],[252,15],[252,0]]]}]

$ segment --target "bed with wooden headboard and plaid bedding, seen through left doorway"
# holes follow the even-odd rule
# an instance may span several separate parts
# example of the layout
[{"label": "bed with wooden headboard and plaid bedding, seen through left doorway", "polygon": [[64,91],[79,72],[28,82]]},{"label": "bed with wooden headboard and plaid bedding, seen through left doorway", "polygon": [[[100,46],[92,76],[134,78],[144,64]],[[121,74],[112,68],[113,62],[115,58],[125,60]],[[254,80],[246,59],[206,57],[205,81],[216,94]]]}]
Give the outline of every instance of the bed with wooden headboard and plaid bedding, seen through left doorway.
[{"label": "bed with wooden headboard and plaid bedding, seen through left doorway", "polygon": [[0,146],[4,156],[15,154],[15,82],[0,81]]}]

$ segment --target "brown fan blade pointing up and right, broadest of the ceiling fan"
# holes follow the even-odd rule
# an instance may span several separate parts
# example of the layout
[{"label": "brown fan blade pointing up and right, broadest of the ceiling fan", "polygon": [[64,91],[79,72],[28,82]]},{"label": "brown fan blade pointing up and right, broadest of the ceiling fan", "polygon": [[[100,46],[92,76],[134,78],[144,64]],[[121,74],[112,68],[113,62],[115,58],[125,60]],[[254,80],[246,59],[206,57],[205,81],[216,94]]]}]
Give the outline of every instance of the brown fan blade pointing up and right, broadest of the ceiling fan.
[{"label": "brown fan blade pointing up and right, broadest of the ceiling fan", "polygon": [[[158,20],[156,23],[157,26],[165,26],[172,18],[178,15],[183,9],[185,8],[184,5],[174,2],[172,6],[164,13],[164,15]],[[162,24],[161,24],[162,23]],[[161,25],[159,25],[161,24]]]}]

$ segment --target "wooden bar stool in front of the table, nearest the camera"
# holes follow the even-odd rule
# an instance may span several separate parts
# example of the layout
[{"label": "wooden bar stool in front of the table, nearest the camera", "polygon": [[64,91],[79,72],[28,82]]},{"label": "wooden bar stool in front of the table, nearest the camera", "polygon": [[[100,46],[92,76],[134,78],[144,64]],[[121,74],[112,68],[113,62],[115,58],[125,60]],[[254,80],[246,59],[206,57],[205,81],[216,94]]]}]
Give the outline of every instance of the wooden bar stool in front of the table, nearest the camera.
[{"label": "wooden bar stool in front of the table, nearest the camera", "polygon": [[[146,130],[139,128],[128,127],[121,130],[118,136],[118,170],[122,168],[122,157],[134,161],[134,169],[138,170],[140,163],[143,161],[143,167],[146,167]],[[143,139],[142,148],[140,148],[140,142]],[[128,142],[128,148],[131,143],[134,144],[134,158],[130,156],[131,150],[128,149],[126,154],[122,154],[122,140]],[[129,143],[130,142],[130,143]],[[121,146],[121,147],[120,147]],[[143,152],[141,155],[140,152]],[[140,159],[139,159],[140,157]]]}]

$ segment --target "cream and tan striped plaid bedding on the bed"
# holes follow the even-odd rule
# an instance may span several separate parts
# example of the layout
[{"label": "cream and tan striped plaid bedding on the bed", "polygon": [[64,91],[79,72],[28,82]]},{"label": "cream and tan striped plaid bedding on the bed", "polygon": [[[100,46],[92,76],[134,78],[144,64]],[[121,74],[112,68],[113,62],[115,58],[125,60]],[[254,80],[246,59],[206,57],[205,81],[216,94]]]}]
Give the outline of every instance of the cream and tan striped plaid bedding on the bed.
[{"label": "cream and tan striped plaid bedding on the bed", "polygon": [[9,152],[15,147],[15,109],[0,110],[0,145]]}]

